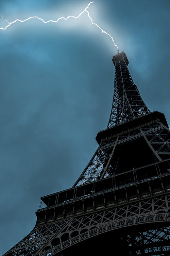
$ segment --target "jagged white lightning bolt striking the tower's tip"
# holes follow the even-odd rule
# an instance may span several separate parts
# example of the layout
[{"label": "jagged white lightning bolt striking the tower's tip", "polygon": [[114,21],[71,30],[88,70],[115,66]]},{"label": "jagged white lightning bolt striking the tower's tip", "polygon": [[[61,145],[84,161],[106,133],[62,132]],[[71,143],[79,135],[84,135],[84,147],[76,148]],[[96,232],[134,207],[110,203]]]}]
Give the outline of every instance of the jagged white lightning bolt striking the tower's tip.
[{"label": "jagged white lightning bolt striking the tower's tip", "polygon": [[91,20],[91,24],[92,24],[92,25],[95,25],[96,27],[98,27],[98,28],[102,31],[102,33],[108,35],[108,36],[112,39],[114,46],[116,46],[117,49],[118,49],[118,46],[115,44],[115,41],[114,41],[113,37],[112,37],[110,34],[108,34],[106,31],[104,31],[104,30],[103,30],[100,26],[98,26],[96,23],[94,23],[93,20],[92,20],[92,18],[90,17],[90,13],[87,11],[87,9],[89,8],[90,4],[93,3],[93,2],[94,2],[94,1],[89,2],[89,4],[87,5],[87,7],[86,7],[78,16],[70,15],[70,16],[68,16],[67,18],[61,17],[61,18],[58,18],[57,20],[52,20],[52,19],[50,19],[50,20],[45,21],[44,19],[39,18],[39,17],[37,17],[37,16],[31,16],[31,17],[29,17],[29,18],[27,18],[27,19],[23,19],[23,20],[16,19],[16,20],[14,20],[13,22],[8,22],[5,18],[3,18],[3,17],[0,15],[0,17],[1,17],[2,19],[4,19],[4,20],[8,23],[8,25],[6,25],[6,27],[4,27],[4,28],[3,28],[3,27],[0,27],[0,29],[6,30],[8,27],[10,27],[12,24],[14,24],[14,23],[16,23],[16,22],[26,22],[27,20],[34,19],[34,18],[39,19],[39,20],[41,20],[41,21],[44,22],[44,23],[49,23],[49,22],[57,23],[57,22],[59,22],[59,20],[61,20],[61,19],[64,19],[64,20],[67,20],[67,19],[69,19],[69,18],[77,19],[77,18],[79,18],[83,13],[86,12],[86,13],[88,14],[89,19]]}]

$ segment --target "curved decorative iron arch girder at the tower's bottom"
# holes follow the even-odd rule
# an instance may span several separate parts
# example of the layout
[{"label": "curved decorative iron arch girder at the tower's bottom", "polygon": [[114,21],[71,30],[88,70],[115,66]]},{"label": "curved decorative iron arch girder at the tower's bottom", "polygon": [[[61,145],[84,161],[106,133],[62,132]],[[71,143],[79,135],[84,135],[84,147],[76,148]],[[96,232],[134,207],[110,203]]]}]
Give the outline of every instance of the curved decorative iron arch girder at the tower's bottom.
[{"label": "curved decorative iron arch girder at the tower's bottom", "polygon": [[[126,220],[123,221],[118,221],[118,222],[114,222],[114,223],[109,223],[107,225],[89,230],[87,232],[84,232],[82,234],[79,234],[78,236],[75,236],[59,245],[56,245],[52,248],[50,248],[49,250],[47,250],[46,252],[39,254],[39,256],[47,256],[47,255],[55,255],[56,253],[59,253],[61,251],[63,251],[65,248],[68,248],[74,244],[80,243],[84,240],[90,239],[94,236],[98,236],[99,234],[103,234],[105,232],[109,232],[111,230],[116,230],[116,229],[120,229],[120,228],[124,228],[127,226],[137,226],[139,224],[145,224],[145,223],[157,223],[157,222],[164,222],[167,224],[169,224],[170,221],[170,214],[155,214],[155,215],[144,215],[144,216],[140,216],[140,217],[135,217],[135,218],[128,218]],[[155,239],[157,239],[158,241],[164,241],[164,240],[168,240],[168,243],[170,242],[170,227],[165,227],[165,228],[160,228],[160,229],[153,229],[153,230],[147,230],[145,232],[143,232],[145,234],[145,238],[147,239],[147,243],[151,243],[152,241],[154,241]],[[162,236],[161,236],[162,235]],[[130,237],[130,235],[129,235]],[[138,235],[139,237],[139,235]],[[130,239],[129,239],[130,240]],[[142,238],[141,238],[142,240]],[[134,242],[134,240],[130,240],[130,242]],[[157,242],[158,242],[157,241]],[[139,243],[139,241],[138,241]],[[142,241],[140,241],[140,243],[142,243]],[[131,245],[131,244],[130,244]],[[132,246],[131,246],[132,247]],[[152,248],[153,246],[150,245],[149,248]],[[156,248],[158,246],[154,246],[153,249],[151,249],[152,251],[156,251]],[[164,246],[162,248],[162,251],[166,252],[166,251],[170,251],[170,246]],[[145,249],[145,252],[148,252],[148,248]],[[139,249],[138,249],[138,253],[139,253]],[[141,252],[140,254],[141,255]]]}]

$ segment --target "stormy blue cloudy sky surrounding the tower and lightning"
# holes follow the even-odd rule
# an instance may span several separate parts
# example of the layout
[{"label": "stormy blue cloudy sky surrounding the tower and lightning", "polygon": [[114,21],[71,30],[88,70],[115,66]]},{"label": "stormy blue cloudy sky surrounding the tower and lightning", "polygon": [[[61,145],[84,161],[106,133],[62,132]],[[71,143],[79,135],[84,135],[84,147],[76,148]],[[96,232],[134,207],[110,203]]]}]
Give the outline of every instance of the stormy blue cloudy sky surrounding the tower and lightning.
[{"label": "stormy blue cloudy sky surrounding the tower and lightning", "polygon": [[[57,19],[89,1],[1,0],[0,15]],[[169,0],[95,0],[89,13],[129,59],[151,111],[170,124]],[[5,26],[0,18],[0,27]],[[0,30],[1,240],[5,253],[34,227],[40,197],[69,188],[97,148],[114,88],[112,40],[79,19],[16,23]]]}]

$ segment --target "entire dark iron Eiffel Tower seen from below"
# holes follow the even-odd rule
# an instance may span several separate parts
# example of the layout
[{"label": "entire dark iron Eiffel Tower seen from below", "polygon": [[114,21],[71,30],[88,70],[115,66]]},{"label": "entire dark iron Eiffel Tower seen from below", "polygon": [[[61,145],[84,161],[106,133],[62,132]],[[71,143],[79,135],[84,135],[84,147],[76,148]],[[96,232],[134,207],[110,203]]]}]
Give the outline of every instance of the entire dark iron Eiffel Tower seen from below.
[{"label": "entire dark iron Eiffel Tower seen from below", "polygon": [[5,256],[170,255],[170,130],[113,56],[107,128],[72,188],[41,197],[34,229]]}]

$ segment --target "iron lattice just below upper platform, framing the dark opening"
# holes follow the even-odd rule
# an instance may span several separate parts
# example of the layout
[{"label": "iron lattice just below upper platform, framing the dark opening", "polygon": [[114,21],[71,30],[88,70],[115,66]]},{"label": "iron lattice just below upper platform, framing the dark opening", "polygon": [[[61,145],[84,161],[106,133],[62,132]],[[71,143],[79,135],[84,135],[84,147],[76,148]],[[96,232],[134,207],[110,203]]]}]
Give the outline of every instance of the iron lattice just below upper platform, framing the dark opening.
[{"label": "iron lattice just below upper platform, framing the dark opening", "polygon": [[110,162],[115,143],[116,145],[126,143],[143,135],[147,143],[152,146],[155,155],[159,156],[159,160],[170,157],[170,131],[162,123],[154,123],[141,129],[122,134],[118,138],[114,137],[102,142],[79,177],[76,185],[82,185],[114,175],[115,170]]}]

